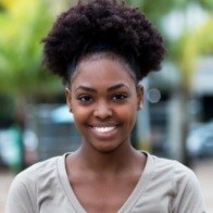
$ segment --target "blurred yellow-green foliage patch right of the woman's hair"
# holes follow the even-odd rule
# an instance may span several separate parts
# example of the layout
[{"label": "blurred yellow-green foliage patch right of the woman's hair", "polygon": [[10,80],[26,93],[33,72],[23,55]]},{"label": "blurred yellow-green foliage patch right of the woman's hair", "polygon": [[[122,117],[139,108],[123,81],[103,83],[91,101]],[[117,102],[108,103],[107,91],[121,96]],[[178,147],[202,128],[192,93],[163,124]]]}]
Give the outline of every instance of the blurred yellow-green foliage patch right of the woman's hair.
[{"label": "blurred yellow-green foliage patch right of the woman's hair", "polygon": [[213,16],[209,16],[197,29],[185,32],[170,49],[170,59],[179,67],[188,86],[197,59],[205,55],[213,55]]}]

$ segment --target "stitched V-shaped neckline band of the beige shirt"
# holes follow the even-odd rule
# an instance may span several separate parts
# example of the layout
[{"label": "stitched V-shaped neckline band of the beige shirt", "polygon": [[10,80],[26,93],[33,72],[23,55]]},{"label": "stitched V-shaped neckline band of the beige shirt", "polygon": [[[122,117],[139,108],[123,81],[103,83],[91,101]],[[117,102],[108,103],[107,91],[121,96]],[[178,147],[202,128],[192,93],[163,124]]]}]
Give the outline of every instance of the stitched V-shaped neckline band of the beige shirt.
[{"label": "stitched V-shaped neckline band of the beige shirt", "polygon": [[[138,199],[141,197],[141,195],[145,192],[146,186],[148,185],[149,180],[151,179],[152,171],[153,171],[152,167],[154,164],[153,158],[151,158],[151,155],[147,152],[142,152],[142,153],[145,153],[147,155],[147,162],[146,162],[143,172],[142,172],[136,187],[134,188],[134,190],[131,191],[131,193],[129,195],[127,200],[124,202],[124,204],[120,208],[117,213],[130,212],[130,210],[134,208],[135,203],[138,201]],[[64,190],[67,199],[70,200],[72,206],[75,209],[75,211],[80,212],[80,213],[87,213],[87,211],[80,204],[78,198],[76,197],[76,195],[70,184],[66,167],[65,167],[65,158],[67,154],[71,154],[71,153],[64,154],[58,161],[59,178],[61,180],[61,185],[63,187],[63,190]]]}]

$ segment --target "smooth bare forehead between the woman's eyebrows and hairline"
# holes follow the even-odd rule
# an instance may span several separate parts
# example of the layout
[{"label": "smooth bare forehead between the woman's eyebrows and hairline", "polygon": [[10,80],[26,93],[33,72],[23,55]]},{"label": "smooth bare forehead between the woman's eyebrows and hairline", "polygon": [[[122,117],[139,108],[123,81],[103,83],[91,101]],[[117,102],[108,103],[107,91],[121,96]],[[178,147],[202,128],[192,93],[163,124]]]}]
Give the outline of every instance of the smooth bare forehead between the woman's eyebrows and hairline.
[{"label": "smooth bare forehead between the woman's eyebrows and hairline", "polygon": [[133,72],[122,62],[108,58],[87,58],[82,60],[72,77],[72,86],[112,86],[114,84],[135,85]]}]

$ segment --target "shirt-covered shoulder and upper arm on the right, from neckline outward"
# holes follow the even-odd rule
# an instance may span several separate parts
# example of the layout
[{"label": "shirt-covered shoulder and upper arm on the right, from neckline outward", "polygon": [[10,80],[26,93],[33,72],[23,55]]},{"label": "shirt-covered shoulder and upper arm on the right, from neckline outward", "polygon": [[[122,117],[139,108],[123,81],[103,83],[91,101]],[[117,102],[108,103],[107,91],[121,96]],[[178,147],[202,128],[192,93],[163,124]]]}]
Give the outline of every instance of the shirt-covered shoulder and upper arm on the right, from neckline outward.
[{"label": "shirt-covered shoulder and upper arm on the right, from neckline outward", "polygon": [[171,187],[171,210],[175,212],[205,212],[200,184],[195,172],[184,164],[150,155],[154,162],[155,177]]}]

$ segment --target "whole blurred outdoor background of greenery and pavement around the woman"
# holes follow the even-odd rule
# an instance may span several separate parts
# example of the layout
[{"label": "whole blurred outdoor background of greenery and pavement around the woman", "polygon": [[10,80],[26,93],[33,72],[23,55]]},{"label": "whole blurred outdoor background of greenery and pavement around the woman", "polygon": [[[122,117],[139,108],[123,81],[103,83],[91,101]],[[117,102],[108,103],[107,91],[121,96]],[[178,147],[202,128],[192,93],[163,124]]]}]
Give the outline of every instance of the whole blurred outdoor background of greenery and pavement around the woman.
[{"label": "whole blurred outdoor background of greenery and pavement around the woman", "polygon": [[[75,150],[80,137],[61,80],[42,68],[41,39],[72,0],[0,0],[0,212],[14,175]],[[164,37],[162,71],[142,80],[137,149],[198,175],[213,212],[213,0],[126,0]]]}]

